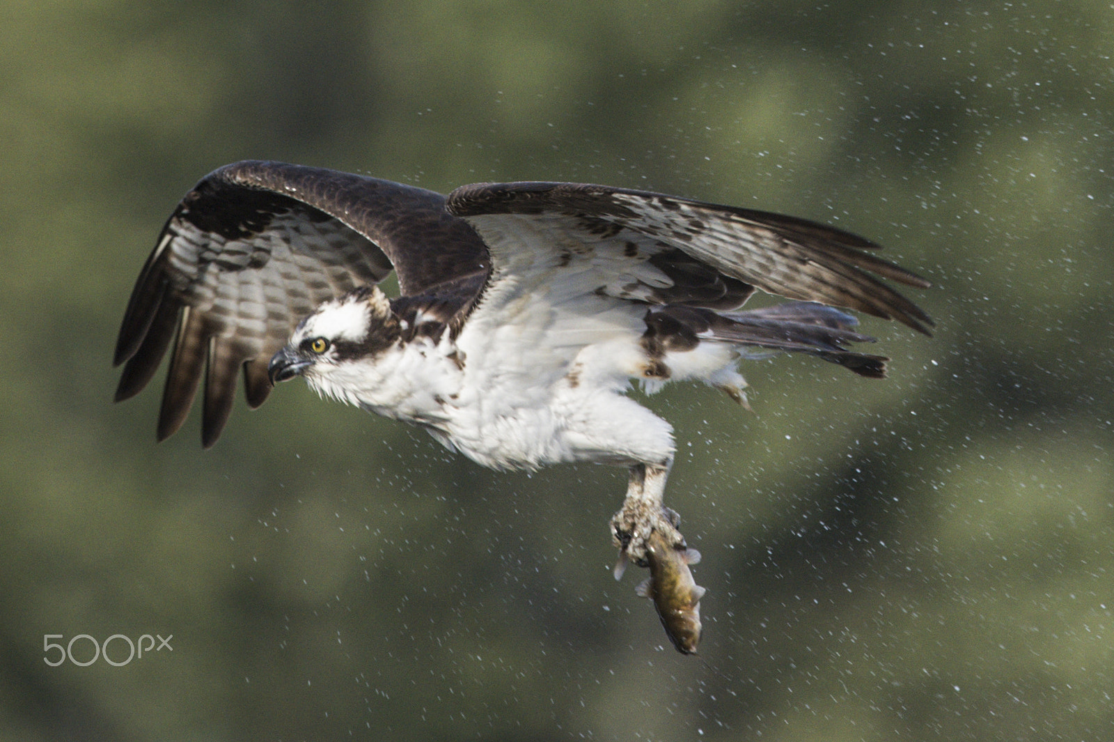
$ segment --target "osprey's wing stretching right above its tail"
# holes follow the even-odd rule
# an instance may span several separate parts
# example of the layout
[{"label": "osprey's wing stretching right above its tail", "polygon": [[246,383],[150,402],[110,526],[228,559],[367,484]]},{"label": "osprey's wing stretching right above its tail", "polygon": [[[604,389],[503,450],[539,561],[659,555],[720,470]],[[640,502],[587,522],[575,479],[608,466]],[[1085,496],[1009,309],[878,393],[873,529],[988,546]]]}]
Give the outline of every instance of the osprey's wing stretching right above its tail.
[{"label": "osprey's wing stretching right above its tail", "polygon": [[[492,279],[522,271],[528,261],[575,261],[592,265],[584,280],[597,282],[595,293],[617,299],[732,310],[758,287],[898,320],[926,334],[932,326],[879,277],[920,287],[928,281],[866,252],[878,245],[805,219],[571,183],[462,186],[449,194],[448,209],[488,244]],[[527,246],[530,256],[521,254]],[[590,260],[576,260],[585,256]]]}]

